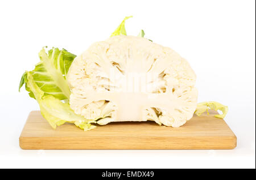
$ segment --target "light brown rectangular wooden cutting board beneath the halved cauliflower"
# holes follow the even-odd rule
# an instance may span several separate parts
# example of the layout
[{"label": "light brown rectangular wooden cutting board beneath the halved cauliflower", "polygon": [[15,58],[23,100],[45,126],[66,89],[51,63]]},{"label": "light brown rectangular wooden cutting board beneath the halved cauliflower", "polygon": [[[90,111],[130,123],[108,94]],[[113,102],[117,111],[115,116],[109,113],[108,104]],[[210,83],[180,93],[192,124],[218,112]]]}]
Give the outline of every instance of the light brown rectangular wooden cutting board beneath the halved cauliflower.
[{"label": "light brown rectangular wooden cutting board beneath the halved cauliflower", "polygon": [[236,135],[223,119],[196,115],[174,128],[155,122],[113,122],[82,131],[71,123],[54,130],[32,111],[19,137],[22,149],[233,149]]}]

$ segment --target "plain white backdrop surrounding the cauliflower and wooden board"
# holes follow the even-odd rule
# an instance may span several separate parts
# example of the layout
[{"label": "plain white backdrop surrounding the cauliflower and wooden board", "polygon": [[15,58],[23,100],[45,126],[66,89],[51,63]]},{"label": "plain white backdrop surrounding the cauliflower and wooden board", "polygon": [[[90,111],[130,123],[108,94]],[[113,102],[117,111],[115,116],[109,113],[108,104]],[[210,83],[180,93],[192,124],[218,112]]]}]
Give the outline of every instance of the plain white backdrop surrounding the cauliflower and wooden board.
[{"label": "plain white backdrop surrounding the cauliflower and wooden board", "polygon": [[[24,151],[18,138],[36,101],[20,76],[43,46],[82,53],[105,40],[125,16],[128,35],[186,58],[199,101],[229,106],[233,150]],[[255,168],[255,1],[0,1],[0,168]]]}]

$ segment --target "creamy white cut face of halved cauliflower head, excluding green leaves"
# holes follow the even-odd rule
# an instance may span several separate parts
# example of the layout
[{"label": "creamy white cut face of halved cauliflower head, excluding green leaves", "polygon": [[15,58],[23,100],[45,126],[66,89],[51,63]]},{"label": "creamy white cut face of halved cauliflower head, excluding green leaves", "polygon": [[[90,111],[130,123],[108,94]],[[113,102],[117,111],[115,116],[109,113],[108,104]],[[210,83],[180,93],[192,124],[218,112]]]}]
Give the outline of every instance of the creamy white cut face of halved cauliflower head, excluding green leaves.
[{"label": "creamy white cut face of halved cauliflower head, excluding green leaves", "polygon": [[113,36],[73,61],[69,104],[100,125],[149,120],[179,127],[195,112],[195,82],[189,63],[174,50],[142,37]]}]

